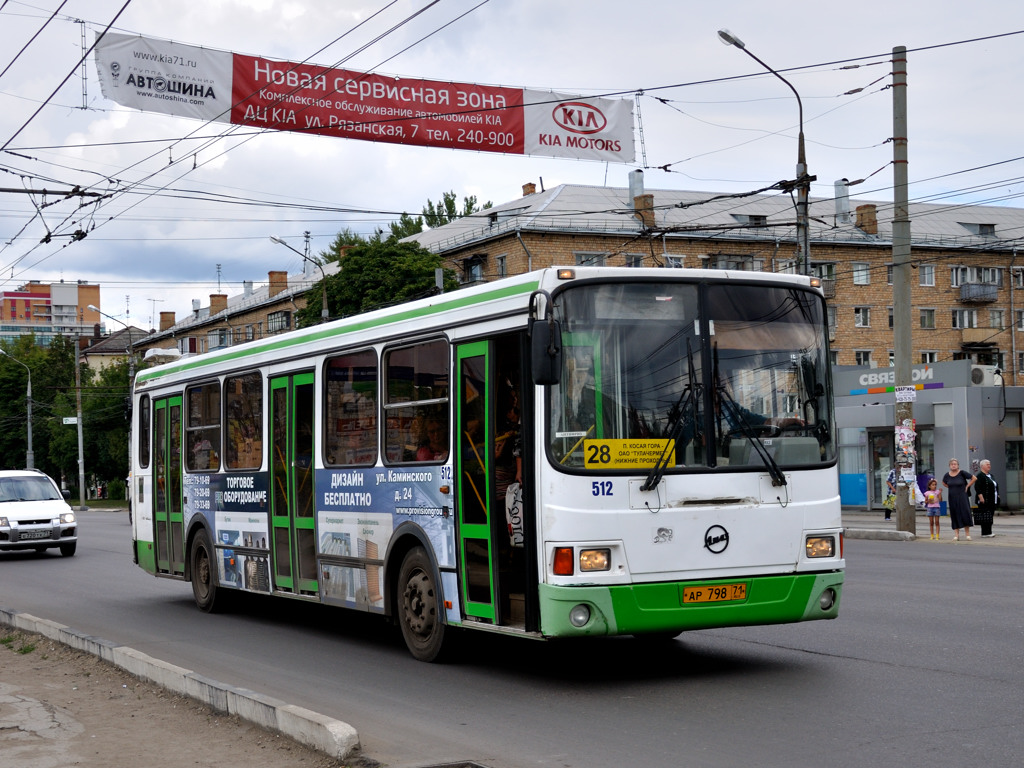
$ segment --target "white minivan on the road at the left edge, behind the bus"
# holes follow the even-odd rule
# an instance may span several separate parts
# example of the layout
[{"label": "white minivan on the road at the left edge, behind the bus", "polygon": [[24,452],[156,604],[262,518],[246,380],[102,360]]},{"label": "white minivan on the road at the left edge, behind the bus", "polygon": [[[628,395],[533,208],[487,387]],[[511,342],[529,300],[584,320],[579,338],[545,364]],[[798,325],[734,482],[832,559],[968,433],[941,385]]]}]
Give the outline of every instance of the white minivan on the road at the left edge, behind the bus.
[{"label": "white minivan on the road at the left edge, behind the bus", "polygon": [[78,547],[75,513],[60,488],[36,469],[0,470],[0,551],[52,547],[65,557]]}]

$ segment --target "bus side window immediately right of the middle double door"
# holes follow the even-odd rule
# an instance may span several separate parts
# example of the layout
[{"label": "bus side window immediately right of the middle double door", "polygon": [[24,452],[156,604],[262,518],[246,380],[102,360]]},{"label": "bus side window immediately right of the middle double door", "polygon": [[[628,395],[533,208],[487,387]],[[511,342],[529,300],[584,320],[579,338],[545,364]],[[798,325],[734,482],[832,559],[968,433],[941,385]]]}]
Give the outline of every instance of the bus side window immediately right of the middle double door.
[{"label": "bus side window immediately right of the middle double door", "polygon": [[377,463],[377,352],[342,354],[324,366],[324,463]]}]

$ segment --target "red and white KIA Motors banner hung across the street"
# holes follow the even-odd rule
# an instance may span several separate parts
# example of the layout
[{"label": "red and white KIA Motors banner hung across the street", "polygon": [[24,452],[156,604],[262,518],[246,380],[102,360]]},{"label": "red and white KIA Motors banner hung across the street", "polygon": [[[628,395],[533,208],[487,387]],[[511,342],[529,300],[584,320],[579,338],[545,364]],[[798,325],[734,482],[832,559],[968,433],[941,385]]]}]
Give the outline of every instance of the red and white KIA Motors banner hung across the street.
[{"label": "red and white KIA Motors banner hung across the street", "polygon": [[628,163],[633,102],[396,78],[132,35],[96,45],[103,96],[144,112],[451,150]]}]

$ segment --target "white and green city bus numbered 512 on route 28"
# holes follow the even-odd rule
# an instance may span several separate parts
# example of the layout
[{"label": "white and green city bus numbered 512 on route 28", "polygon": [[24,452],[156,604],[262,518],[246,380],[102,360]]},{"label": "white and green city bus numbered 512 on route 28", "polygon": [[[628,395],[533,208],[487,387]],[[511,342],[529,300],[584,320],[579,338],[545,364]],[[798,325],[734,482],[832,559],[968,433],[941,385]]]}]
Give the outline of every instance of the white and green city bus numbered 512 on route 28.
[{"label": "white and green city bus numbered 512 on route 28", "polygon": [[809,278],[551,268],[140,372],[140,567],[535,638],[835,618]]}]

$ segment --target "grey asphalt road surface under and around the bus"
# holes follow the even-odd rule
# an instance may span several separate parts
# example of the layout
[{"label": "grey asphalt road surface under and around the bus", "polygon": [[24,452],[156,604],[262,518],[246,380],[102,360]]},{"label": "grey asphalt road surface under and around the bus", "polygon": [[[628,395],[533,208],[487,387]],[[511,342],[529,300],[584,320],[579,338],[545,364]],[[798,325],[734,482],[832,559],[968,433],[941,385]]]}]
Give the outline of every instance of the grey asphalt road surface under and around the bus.
[{"label": "grey asphalt road surface under and around the bus", "polygon": [[394,768],[1018,766],[1024,549],[848,540],[835,622],[651,645],[473,636],[413,660],[374,616],[281,600],[200,613],[131,563],[124,513],[78,555],[0,556],[0,605],[352,724]]}]

